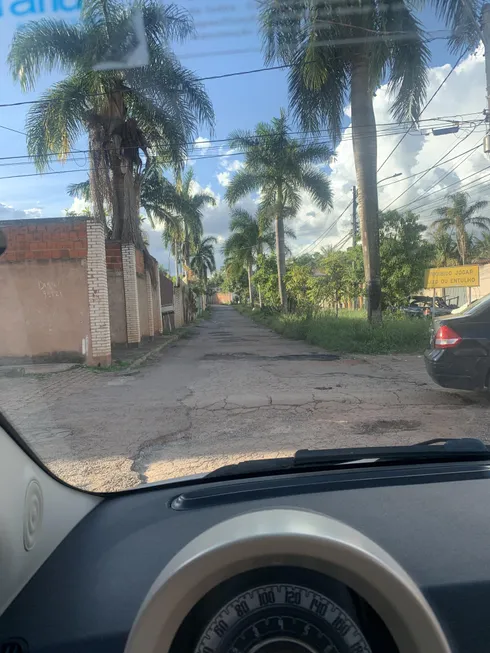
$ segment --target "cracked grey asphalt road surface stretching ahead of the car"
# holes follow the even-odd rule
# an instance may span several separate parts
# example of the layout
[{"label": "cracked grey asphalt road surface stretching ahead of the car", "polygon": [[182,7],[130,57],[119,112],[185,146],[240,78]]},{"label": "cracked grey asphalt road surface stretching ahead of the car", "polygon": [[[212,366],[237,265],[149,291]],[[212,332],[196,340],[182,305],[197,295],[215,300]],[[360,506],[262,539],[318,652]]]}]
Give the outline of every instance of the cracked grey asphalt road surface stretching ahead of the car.
[{"label": "cracked grey asphalt road surface stretching ahead of the car", "polygon": [[444,390],[421,356],[336,356],[231,307],[138,373],[0,379],[0,406],[60,477],[97,491],[300,448],[490,441],[490,396]]}]

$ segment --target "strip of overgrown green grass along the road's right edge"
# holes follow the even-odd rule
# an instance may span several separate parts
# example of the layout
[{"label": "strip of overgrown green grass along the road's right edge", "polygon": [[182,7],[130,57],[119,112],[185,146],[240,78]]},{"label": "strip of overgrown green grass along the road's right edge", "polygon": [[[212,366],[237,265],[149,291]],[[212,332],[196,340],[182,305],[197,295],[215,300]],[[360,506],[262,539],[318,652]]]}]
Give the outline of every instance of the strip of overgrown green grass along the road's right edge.
[{"label": "strip of overgrown green grass along the road's right edge", "polygon": [[248,306],[237,310],[287,338],[305,340],[328,351],[351,354],[422,353],[429,342],[430,321],[400,316],[384,316],[372,326],[364,311],[341,311],[306,315],[266,313]]}]

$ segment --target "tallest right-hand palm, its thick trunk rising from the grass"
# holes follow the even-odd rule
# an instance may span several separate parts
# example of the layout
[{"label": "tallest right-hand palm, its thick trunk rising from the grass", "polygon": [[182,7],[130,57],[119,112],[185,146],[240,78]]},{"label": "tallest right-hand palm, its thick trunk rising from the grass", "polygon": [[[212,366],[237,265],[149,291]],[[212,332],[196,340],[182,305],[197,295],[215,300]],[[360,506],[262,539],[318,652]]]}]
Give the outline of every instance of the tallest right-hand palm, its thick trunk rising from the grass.
[{"label": "tallest right-hand palm, its thick trunk rising from the grass", "polygon": [[[478,0],[431,0],[450,23],[454,50],[480,40]],[[372,0],[260,0],[267,65],[291,65],[289,96],[306,130],[342,133],[350,101],[369,319],[381,319],[376,123],[373,96],[381,83],[395,93],[397,121],[415,121],[427,88],[430,50],[417,3]]]}]

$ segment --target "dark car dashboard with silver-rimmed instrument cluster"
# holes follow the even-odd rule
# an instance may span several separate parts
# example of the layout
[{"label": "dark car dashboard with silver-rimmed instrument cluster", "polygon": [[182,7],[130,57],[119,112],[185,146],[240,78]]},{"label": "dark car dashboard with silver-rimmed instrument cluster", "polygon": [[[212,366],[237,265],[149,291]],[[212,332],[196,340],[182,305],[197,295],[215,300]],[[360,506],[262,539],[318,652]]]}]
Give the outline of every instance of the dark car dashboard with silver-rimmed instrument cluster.
[{"label": "dark car dashboard with silver-rimmed instrument cluster", "polygon": [[489,495],[465,462],[108,496],[0,617],[0,650],[487,653]]}]

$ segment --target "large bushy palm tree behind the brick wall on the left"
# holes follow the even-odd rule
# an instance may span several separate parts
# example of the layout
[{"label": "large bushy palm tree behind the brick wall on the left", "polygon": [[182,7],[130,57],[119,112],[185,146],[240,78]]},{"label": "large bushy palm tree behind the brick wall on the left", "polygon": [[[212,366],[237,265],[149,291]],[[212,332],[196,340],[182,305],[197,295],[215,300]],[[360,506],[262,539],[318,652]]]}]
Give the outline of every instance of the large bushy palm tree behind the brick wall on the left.
[{"label": "large bushy palm tree behind the brick wall on the left", "polygon": [[[134,47],[138,16],[144,24],[148,63],[99,69],[108,55],[123,59]],[[138,215],[146,165],[158,155],[165,165],[181,166],[198,124],[213,123],[202,83],[169,47],[171,40],[192,34],[189,14],[175,5],[87,0],[77,25],[41,19],[14,35],[8,61],[23,90],[33,90],[42,73],[67,74],[30,109],[28,152],[43,171],[50,155],[66,160],[87,133],[94,215],[103,221],[104,205],[110,205],[115,239],[140,244]]]}]

